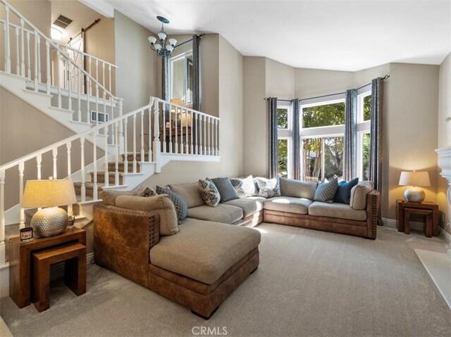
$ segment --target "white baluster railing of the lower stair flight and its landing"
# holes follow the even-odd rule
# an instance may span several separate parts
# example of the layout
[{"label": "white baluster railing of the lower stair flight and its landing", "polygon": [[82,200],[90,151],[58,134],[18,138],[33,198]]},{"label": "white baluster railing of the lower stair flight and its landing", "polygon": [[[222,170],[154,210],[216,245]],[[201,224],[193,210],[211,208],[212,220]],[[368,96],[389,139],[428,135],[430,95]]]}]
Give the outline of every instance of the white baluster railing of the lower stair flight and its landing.
[{"label": "white baluster railing of the lower stair flight and its landing", "polygon": [[[113,129],[113,134],[109,135],[109,129]],[[97,201],[100,187],[135,188],[137,185],[125,185],[128,178],[131,181],[142,174],[145,163],[153,163],[153,172],[161,172],[164,163],[171,159],[218,159],[218,132],[218,117],[151,97],[146,106],[0,165],[0,265],[4,262],[6,207],[17,203],[20,207],[27,179],[69,177],[80,184],[81,203],[89,198],[88,187],[92,189],[91,200]],[[89,151],[87,139],[92,139]],[[162,158],[163,155],[166,158]],[[99,177],[103,183],[98,182]],[[111,183],[110,177],[113,178]],[[11,181],[13,191],[18,188],[16,200],[10,200],[14,193],[8,190],[8,204],[5,200],[7,181]],[[24,226],[23,208],[16,223]]]}]

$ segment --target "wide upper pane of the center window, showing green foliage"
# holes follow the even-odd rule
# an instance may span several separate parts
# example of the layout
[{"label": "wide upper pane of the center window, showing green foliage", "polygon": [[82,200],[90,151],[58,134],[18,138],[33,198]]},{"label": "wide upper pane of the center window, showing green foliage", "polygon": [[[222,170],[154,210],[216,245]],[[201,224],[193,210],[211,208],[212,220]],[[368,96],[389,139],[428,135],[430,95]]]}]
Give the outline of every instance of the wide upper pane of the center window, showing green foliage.
[{"label": "wide upper pane of the center window, showing green foliage", "polygon": [[302,109],[303,127],[326,127],[345,124],[345,102]]}]

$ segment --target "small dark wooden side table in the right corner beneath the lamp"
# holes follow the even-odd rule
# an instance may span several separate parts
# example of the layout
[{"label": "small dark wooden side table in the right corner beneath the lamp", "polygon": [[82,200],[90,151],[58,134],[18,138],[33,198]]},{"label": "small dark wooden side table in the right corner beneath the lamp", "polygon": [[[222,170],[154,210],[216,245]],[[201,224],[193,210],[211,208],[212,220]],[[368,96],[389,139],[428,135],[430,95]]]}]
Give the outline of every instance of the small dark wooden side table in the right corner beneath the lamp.
[{"label": "small dark wooden side table in the right corner beneath the lamp", "polygon": [[409,201],[396,201],[396,227],[397,231],[410,234],[410,215],[419,214],[426,217],[426,237],[438,236],[438,205],[436,203],[410,203]]}]

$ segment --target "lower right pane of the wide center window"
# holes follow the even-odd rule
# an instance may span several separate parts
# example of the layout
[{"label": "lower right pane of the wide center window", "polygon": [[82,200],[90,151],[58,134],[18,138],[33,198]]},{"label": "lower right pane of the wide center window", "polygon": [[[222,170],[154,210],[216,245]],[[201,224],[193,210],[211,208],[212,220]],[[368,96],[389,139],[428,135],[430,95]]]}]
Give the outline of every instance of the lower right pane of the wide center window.
[{"label": "lower right pane of the wide center window", "polygon": [[342,178],[344,137],[324,138],[324,177]]}]

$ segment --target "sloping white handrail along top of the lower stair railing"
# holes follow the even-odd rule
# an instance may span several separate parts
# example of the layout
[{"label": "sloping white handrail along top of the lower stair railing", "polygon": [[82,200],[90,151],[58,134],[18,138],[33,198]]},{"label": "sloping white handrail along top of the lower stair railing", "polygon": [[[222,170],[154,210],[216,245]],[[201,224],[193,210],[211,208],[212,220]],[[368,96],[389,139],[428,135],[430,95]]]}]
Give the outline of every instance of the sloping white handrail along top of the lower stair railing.
[{"label": "sloping white handrail along top of the lower stair railing", "polygon": [[[109,120],[108,122],[104,122],[104,123],[101,123],[101,124],[97,125],[96,127],[92,127],[91,129],[87,129],[84,132],[80,132],[78,134],[74,134],[73,136],[70,136],[70,137],[68,137],[66,139],[63,139],[61,141],[57,141],[54,144],[45,146],[44,148],[40,148],[39,150],[34,151],[34,152],[30,153],[30,154],[24,155],[23,157],[20,157],[20,158],[18,158],[16,160],[11,160],[11,162],[9,162],[9,163],[6,163],[4,165],[0,165],[0,171],[8,170],[11,167],[15,167],[15,166],[19,165],[20,163],[23,163],[23,162],[26,162],[27,160],[36,158],[38,155],[42,155],[44,153],[47,153],[47,152],[51,151],[54,148],[57,148],[59,146],[62,146],[64,144],[69,143],[70,141],[75,141],[76,139],[80,139],[82,136],[89,136],[89,134],[97,132],[100,129],[105,129],[105,127],[109,127],[110,125],[114,125],[114,124],[116,124],[116,122],[120,122],[121,120],[124,120],[125,118],[128,118],[128,117],[130,117],[132,115],[136,115],[137,113],[140,113],[142,110],[152,108],[152,106],[154,104],[154,99],[156,99],[156,98],[151,97],[151,101],[150,101],[149,104],[147,104],[145,106],[142,106],[141,108],[137,108],[135,110],[132,110],[132,111],[130,111],[130,113],[125,113],[124,115],[115,117],[112,120]],[[166,103],[169,103],[169,102],[166,102]]]}]

